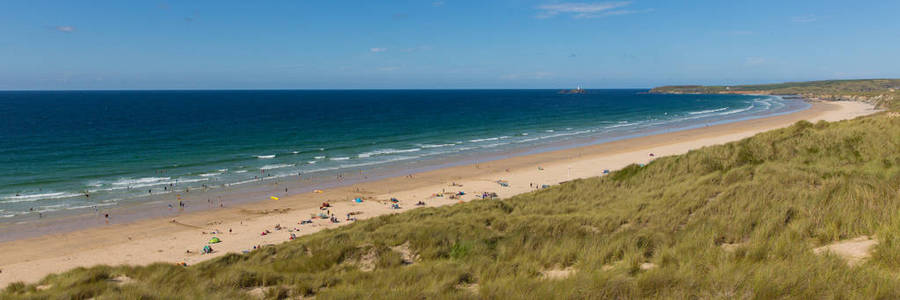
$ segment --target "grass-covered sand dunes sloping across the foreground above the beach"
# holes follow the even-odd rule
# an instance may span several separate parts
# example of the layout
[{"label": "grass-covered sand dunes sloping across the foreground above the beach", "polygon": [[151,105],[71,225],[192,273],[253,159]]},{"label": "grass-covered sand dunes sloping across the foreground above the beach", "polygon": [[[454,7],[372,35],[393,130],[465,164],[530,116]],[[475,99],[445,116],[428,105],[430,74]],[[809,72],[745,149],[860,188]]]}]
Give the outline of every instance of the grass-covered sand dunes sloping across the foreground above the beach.
[{"label": "grass-covered sand dunes sloping across the foreground above the beach", "polygon": [[[0,298],[900,298],[898,189],[900,118],[799,122],[509,199],[190,267],[79,268]],[[861,235],[879,244],[855,267],[812,251]]]}]

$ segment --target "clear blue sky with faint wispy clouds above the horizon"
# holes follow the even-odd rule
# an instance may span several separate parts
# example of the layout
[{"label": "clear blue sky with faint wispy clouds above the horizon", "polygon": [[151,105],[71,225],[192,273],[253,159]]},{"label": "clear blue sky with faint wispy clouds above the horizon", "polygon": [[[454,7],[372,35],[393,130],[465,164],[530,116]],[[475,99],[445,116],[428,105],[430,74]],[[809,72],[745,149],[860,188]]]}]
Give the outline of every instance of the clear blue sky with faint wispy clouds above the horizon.
[{"label": "clear blue sky with faint wispy clouds above the horizon", "polygon": [[898,16],[900,1],[3,1],[0,89],[900,77]]}]

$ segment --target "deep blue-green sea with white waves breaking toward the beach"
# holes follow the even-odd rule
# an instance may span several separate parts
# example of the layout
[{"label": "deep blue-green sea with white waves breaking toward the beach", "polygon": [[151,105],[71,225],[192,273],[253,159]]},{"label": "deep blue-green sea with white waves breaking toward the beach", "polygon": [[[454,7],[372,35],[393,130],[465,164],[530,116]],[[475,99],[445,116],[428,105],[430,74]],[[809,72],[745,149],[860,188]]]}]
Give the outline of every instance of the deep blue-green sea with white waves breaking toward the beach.
[{"label": "deep blue-green sea with white waves breaking toward the beach", "polygon": [[646,92],[4,91],[0,222],[272,180],[312,178],[312,189],[809,107]]}]

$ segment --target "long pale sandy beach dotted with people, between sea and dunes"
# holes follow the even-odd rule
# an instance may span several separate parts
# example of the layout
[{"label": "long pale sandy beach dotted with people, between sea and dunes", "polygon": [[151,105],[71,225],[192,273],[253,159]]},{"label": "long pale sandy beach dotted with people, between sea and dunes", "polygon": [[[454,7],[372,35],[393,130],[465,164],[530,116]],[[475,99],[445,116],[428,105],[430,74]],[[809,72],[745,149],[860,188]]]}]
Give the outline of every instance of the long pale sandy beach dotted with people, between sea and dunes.
[{"label": "long pale sandy beach dotted with people, between sea and dunes", "polygon": [[[604,170],[631,163],[647,163],[654,158],[739,140],[799,120],[838,121],[874,112],[877,110],[871,105],[860,102],[813,102],[810,109],[787,115],[444,168],[322,193],[187,213],[175,219],[146,219],[4,242],[0,243],[0,286],[15,281],[34,282],[50,273],[96,264],[192,265],[229,252],[251,251],[257,245],[282,243],[290,240],[292,234],[301,236],[348,224],[350,213],[354,218],[366,219],[415,209],[420,207],[418,202],[424,202],[424,206],[451,205],[480,199],[483,193],[505,198],[543,185],[602,176]],[[465,195],[451,199],[451,194],[461,191]],[[436,196],[441,193],[444,195]],[[363,199],[362,203],[346,200],[357,197]],[[391,207],[391,198],[399,200],[399,209]],[[331,207],[320,209],[328,200],[332,200]],[[333,214],[340,222],[315,218],[311,224],[299,224],[320,213]],[[211,245],[213,253],[200,254],[212,237],[222,242]]]}]

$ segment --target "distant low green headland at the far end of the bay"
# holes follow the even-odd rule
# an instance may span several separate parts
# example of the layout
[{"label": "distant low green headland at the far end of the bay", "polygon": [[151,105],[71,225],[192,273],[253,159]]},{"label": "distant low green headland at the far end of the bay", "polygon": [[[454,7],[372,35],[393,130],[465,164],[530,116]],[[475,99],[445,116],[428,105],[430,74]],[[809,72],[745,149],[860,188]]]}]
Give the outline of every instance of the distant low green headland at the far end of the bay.
[{"label": "distant low green headland at the far end of the bay", "polygon": [[650,92],[804,95],[824,100],[866,101],[881,107],[900,108],[900,79],[823,80],[733,86],[679,85],[658,87]]}]

